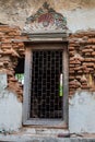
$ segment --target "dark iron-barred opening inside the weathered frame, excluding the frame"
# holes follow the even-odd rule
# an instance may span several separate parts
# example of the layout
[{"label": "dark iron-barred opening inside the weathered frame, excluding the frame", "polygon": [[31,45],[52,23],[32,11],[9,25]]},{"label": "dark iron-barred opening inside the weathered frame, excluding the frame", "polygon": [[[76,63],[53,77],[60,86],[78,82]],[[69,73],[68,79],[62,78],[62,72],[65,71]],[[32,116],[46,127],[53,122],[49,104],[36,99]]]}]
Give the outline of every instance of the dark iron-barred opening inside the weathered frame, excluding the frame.
[{"label": "dark iron-barred opening inside the weathered frame, excluding the frame", "polygon": [[31,118],[63,118],[62,50],[33,50]]}]

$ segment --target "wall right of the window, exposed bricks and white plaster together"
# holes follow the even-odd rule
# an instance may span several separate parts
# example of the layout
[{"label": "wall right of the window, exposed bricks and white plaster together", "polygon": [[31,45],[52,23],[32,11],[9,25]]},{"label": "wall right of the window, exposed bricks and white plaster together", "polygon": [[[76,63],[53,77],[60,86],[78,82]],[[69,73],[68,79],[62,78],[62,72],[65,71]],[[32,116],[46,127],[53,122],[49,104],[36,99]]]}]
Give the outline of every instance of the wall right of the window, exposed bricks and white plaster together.
[{"label": "wall right of the window, exposed bricks and white plaster together", "polygon": [[95,132],[95,31],[70,36],[69,128]]}]

